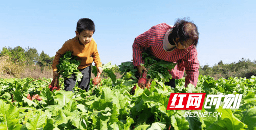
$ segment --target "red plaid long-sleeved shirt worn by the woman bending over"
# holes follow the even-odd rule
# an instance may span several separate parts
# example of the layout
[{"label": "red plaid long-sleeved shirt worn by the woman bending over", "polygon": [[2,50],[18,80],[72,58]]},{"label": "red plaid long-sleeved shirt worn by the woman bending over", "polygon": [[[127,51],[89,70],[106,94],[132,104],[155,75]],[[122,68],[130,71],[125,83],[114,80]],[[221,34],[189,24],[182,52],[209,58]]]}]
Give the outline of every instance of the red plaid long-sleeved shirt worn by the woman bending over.
[{"label": "red plaid long-sleeved shirt worn by the woman bending over", "polygon": [[200,66],[197,59],[196,47],[191,45],[187,49],[175,48],[172,51],[163,49],[163,38],[166,31],[171,28],[170,25],[161,23],[135,38],[133,43],[134,66],[144,63],[142,60],[142,52],[145,49],[150,49],[151,54],[156,58],[177,63],[174,70],[170,72],[173,79],[181,79],[184,75],[184,71],[186,71],[185,86],[189,83],[196,86]]}]

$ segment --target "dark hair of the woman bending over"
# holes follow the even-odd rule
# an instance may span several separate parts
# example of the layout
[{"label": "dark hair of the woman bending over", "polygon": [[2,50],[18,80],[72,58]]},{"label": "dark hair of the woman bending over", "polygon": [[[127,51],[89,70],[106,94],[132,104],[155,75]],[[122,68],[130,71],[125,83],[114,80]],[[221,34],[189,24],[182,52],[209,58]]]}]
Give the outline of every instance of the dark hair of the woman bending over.
[{"label": "dark hair of the woman bending over", "polygon": [[[176,38],[178,38],[178,41],[176,41]],[[180,42],[181,45],[184,45],[183,41],[191,39],[193,45],[197,46],[199,39],[197,25],[194,24],[193,21],[186,20],[186,18],[177,19],[174,24],[172,33],[168,36],[168,40],[170,42],[172,42],[173,39],[176,41],[176,43]]]}]

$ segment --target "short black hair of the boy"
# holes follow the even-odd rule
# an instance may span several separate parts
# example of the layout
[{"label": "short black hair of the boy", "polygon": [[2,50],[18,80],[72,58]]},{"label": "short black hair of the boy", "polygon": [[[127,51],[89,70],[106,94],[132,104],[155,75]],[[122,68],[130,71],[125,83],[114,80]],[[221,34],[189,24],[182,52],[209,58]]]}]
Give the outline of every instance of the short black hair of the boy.
[{"label": "short black hair of the boy", "polygon": [[80,34],[83,30],[90,30],[95,32],[95,24],[89,18],[81,18],[76,24],[76,31]]}]

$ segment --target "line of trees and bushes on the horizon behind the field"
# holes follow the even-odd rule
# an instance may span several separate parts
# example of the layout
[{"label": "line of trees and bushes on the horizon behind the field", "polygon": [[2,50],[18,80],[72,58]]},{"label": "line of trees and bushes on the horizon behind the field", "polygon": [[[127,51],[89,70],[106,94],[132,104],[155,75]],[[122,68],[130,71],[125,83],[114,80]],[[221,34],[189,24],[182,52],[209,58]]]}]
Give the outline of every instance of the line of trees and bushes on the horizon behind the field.
[{"label": "line of trees and bushes on the horizon behind the field", "polygon": [[[38,54],[38,51],[34,47],[27,47],[24,49],[21,46],[16,46],[14,48],[3,47],[2,51],[0,52],[0,58],[1,57],[5,57],[4,59],[7,58],[7,60],[12,63],[10,65],[13,65],[13,67],[10,67],[10,65],[5,65],[3,67],[0,64],[0,67],[4,68],[8,73],[18,73],[18,71],[22,71],[20,70],[22,69],[22,66],[24,68],[25,66],[36,65],[40,67],[41,71],[46,67],[51,69],[54,59],[54,57],[50,57],[48,54],[45,54],[44,50]],[[0,63],[1,62],[2,61],[0,59]],[[231,76],[250,78],[252,75],[256,76],[256,61],[250,61],[249,59],[244,58],[238,62],[232,62],[230,64],[223,64],[223,61],[220,61],[218,64],[215,64],[212,67],[209,65],[200,66],[199,74],[209,75],[215,79],[219,79],[221,77],[228,79]],[[185,75],[186,74],[184,74],[184,76]]]}]

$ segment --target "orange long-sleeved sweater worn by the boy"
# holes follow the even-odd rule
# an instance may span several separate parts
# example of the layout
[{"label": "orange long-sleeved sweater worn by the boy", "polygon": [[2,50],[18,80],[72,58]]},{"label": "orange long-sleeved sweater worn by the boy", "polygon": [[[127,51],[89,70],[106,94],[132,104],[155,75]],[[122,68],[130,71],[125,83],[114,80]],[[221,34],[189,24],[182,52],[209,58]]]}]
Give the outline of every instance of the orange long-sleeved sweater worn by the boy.
[{"label": "orange long-sleeved sweater worn by the boy", "polygon": [[74,37],[66,41],[57,51],[52,64],[53,71],[57,71],[56,65],[59,63],[59,58],[67,51],[71,51],[72,55],[77,56],[77,60],[81,60],[78,69],[86,68],[92,65],[93,62],[95,63],[96,67],[102,67],[97,44],[94,39],[92,39],[92,41],[86,45],[81,45],[78,41],[78,38]]}]

